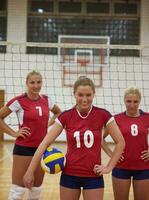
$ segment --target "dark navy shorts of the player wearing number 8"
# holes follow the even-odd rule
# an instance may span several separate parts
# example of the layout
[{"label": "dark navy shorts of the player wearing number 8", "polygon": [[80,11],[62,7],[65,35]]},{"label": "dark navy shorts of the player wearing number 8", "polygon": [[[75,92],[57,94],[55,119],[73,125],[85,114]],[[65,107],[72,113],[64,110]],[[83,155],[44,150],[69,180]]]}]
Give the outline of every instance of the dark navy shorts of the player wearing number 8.
[{"label": "dark navy shorts of the player wearing number 8", "polygon": [[128,170],[114,168],[112,170],[112,176],[121,179],[130,179],[132,177],[133,180],[144,180],[149,179],[149,170]]}]

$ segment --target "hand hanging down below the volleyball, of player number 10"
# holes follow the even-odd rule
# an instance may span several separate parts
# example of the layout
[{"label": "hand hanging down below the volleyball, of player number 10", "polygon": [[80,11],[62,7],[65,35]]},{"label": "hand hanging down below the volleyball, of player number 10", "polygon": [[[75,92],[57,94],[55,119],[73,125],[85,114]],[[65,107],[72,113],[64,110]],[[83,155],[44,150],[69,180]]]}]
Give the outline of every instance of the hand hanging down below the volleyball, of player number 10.
[{"label": "hand hanging down below the volleyball, of player number 10", "polygon": [[23,177],[24,186],[28,189],[31,189],[34,185],[34,174],[26,172]]}]

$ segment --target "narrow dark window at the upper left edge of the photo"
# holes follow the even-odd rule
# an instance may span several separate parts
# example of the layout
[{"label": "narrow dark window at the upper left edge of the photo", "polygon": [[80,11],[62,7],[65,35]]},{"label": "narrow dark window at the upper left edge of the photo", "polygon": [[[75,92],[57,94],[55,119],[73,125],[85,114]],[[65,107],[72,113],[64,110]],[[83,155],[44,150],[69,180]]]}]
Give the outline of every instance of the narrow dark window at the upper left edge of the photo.
[{"label": "narrow dark window at the upper left edge of the photo", "polygon": [[[7,32],[7,2],[1,0],[0,3],[0,41],[6,41]],[[0,53],[6,52],[6,46],[0,45]]]}]

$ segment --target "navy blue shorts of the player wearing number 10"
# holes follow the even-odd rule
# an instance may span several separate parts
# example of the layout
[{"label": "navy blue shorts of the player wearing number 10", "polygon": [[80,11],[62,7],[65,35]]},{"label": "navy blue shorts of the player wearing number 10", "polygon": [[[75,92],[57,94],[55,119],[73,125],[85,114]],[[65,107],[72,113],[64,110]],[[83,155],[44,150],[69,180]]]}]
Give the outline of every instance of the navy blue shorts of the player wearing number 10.
[{"label": "navy blue shorts of the player wearing number 10", "polygon": [[71,189],[104,188],[103,177],[79,177],[61,174],[60,185]]}]

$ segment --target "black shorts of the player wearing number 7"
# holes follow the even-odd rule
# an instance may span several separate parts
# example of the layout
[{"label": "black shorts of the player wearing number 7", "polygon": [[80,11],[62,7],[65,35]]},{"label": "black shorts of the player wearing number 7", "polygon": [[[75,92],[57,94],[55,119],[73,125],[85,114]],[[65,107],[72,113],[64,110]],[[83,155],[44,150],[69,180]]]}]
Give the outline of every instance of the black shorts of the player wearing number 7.
[{"label": "black shorts of the player wearing number 7", "polygon": [[13,148],[13,155],[33,156],[36,150],[36,147],[26,147],[15,144]]}]

